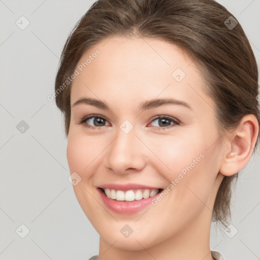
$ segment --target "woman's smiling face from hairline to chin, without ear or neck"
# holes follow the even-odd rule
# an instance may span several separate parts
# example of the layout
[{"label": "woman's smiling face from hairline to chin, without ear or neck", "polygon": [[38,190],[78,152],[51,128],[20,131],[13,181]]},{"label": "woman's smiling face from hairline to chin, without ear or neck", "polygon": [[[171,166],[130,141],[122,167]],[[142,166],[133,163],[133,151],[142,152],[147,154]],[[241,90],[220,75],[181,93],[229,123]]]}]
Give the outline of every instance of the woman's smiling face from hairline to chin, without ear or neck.
[{"label": "woman's smiling face from hairline to chin, without ear or neck", "polygon": [[143,249],[210,223],[222,148],[195,63],[159,39],[121,37],[78,62],[68,163],[80,206],[110,245]]}]

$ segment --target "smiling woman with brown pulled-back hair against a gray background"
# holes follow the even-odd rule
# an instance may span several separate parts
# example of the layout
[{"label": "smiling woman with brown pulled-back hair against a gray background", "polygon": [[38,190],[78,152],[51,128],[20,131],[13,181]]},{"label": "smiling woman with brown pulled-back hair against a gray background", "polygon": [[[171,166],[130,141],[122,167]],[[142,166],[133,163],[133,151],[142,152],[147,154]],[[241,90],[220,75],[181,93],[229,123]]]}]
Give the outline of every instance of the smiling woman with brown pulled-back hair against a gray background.
[{"label": "smiling woman with brown pulled-back hair against a gray background", "polygon": [[207,0],[100,0],[55,82],[90,259],[224,259],[232,181],[259,139],[258,72],[241,25]]}]

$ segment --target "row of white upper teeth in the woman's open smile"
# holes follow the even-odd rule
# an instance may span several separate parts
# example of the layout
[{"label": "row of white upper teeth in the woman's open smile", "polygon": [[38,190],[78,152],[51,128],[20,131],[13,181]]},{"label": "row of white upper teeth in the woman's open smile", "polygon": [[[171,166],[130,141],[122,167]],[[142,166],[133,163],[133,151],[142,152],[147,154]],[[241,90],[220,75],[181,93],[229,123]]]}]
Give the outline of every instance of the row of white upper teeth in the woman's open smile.
[{"label": "row of white upper teeth in the woman's open smile", "polygon": [[131,189],[123,191],[105,188],[104,191],[109,199],[117,201],[139,201],[155,196],[159,192],[159,189],[143,189],[143,191],[141,189]]}]

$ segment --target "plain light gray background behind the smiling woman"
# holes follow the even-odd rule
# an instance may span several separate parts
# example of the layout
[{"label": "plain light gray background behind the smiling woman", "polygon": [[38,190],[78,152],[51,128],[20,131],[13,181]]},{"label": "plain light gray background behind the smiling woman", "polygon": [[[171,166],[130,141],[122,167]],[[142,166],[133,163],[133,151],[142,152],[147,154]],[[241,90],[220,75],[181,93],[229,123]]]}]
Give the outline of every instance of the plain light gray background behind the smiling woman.
[{"label": "plain light gray background behind the smiling woman", "polygon": [[[260,0],[218,2],[242,24],[260,64]],[[47,100],[68,34],[92,3],[0,0],[0,259],[88,259],[99,252],[99,235],[68,181],[61,114]],[[16,25],[21,16],[29,21],[24,30]],[[24,133],[17,129],[22,120]],[[258,148],[240,174],[230,232],[212,224],[211,250],[225,260],[260,259],[259,169]],[[29,230],[24,238],[21,224]]]}]

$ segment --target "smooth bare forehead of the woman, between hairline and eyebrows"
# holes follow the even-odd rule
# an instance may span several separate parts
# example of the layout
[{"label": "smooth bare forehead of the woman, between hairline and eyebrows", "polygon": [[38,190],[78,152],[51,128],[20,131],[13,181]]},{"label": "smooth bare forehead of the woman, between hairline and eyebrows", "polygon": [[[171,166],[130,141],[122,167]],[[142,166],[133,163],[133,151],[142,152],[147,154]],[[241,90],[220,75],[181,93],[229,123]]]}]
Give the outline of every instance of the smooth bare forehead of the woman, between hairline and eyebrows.
[{"label": "smooth bare forehead of the woman, between hairline and eyebrows", "polygon": [[145,99],[174,95],[192,101],[196,92],[198,99],[204,94],[201,72],[192,58],[157,38],[105,39],[82,55],[77,68],[72,103],[86,95],[100,99],[109,95],[114,100],[134,100],[137,94]]}]

